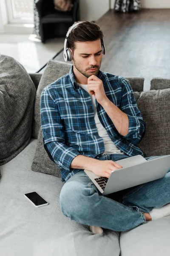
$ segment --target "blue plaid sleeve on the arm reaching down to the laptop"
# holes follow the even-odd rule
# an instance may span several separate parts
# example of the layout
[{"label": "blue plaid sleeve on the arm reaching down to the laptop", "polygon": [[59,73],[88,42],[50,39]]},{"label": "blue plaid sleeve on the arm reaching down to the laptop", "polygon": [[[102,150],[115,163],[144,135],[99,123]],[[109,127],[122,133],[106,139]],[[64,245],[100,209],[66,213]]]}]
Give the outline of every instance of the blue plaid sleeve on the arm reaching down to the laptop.
[{"label": "blue plaid sleeve on the arm reaching down to the laptop", "polygon": [[43,141],[55,163],[70,171],[72,160],[80,153],[65,144],[63,122],[56,103],[46,89],[40,99],[40,116]]}]

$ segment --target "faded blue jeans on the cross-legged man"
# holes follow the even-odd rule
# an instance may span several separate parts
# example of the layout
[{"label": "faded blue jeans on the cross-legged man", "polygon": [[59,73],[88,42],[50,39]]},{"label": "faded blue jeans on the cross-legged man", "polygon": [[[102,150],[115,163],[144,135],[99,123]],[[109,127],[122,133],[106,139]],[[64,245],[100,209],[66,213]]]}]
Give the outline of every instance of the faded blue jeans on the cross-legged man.
[{"label": "faded blue jeans on the cross-legged man", "polygon": [[[117,161],[129,156],[105,154],[99,160]],[[156,157],[146,157],[151,160]],[[84,170],[67,180],[60,192],[62,213],[71,220],[114,231],[127,231],[146,223],[143,212],[170,203],[170,170],[158,180],[102,195]]]}]

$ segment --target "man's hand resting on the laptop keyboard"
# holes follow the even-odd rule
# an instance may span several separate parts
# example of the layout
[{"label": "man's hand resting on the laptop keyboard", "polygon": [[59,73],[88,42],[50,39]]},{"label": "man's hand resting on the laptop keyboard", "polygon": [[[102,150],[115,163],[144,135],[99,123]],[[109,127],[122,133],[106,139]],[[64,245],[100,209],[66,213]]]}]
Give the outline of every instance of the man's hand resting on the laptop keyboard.
[{"label": "man's hand resting on the laptop keyboard", "polygon": [[123,168],[121,165],[112,160],[98,160],[97,163],[91,166],[90,170],[98,176],[109,178],[112,171],[116,171],[121,168]]}]

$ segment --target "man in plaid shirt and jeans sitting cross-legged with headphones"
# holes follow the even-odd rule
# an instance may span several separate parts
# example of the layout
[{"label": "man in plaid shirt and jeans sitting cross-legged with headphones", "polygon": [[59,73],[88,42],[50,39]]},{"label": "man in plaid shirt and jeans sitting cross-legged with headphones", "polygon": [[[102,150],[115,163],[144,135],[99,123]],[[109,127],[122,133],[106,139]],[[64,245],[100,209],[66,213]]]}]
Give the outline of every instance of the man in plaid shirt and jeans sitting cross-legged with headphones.
[{"label": "man in plaid shirt and jeans sitting cross-legged with headphones", "polygon": [[[40,103],[44,146],[65,181],[60,207],[65,216],[89,225],[93,233],[102,233],[100,227],[130,230],[158,218],[153,208],[166,204],[170,208],[170,173],[108,196],[85,174],[88,169],[109,178],[122,168],[116,160],[143,156],[137,144],[145,123],[129,82],[100,70],[105,47],[99,26],[84,21],[70,30],[66,38],[73,66],[43,89]],[[64,56],[67,59],[65,52]]]}]

